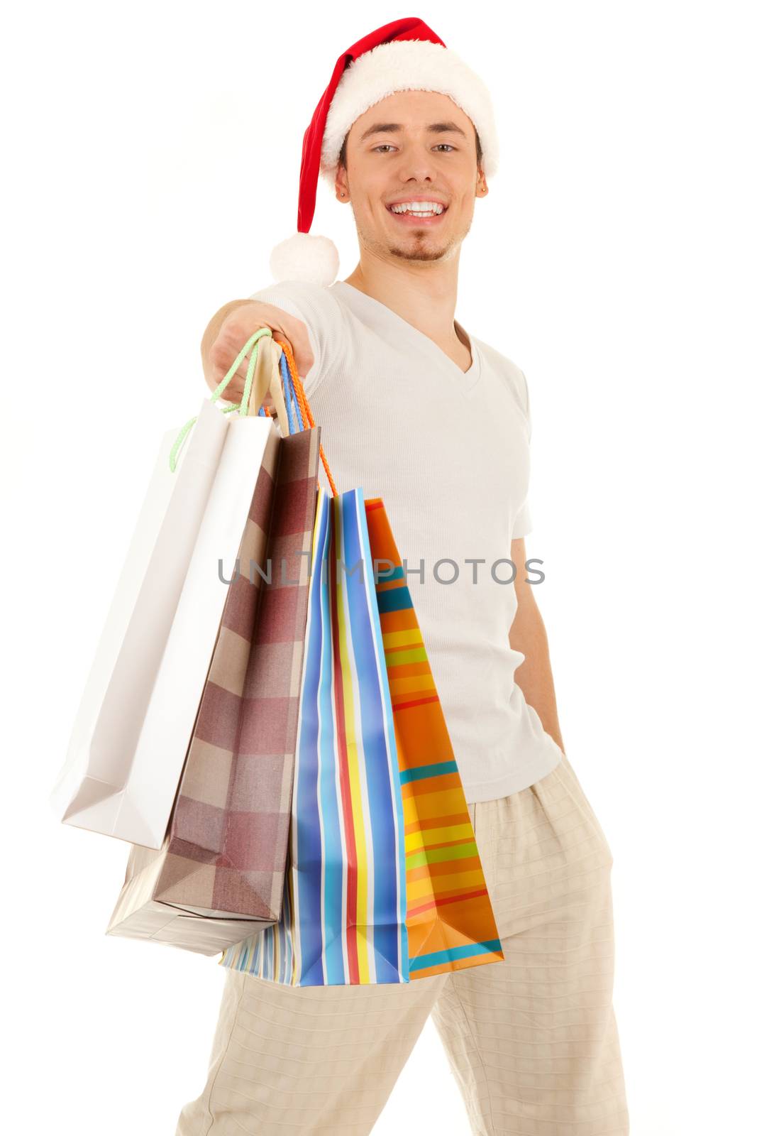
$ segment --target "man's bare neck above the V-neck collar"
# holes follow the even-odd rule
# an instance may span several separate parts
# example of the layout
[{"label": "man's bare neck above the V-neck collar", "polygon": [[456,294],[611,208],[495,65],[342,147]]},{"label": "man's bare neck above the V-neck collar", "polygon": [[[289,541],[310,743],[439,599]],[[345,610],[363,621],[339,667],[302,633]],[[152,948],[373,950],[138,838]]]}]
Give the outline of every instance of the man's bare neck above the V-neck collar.
[{"label": "man's bare neck above the V-neck collar", "polygon": [[421,272],[361,259],[345,278],[359,292],[385,304],[428,335],[462,370],[471,365],[470,344],[455,329],[457,260]]}]

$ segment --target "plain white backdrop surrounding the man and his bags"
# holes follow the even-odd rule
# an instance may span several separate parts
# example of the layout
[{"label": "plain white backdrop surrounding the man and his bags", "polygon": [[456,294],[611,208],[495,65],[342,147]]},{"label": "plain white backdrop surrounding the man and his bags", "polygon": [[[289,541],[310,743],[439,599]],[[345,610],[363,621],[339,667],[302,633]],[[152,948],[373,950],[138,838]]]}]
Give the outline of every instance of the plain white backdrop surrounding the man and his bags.
[{"label": "plain white backdrop surrounding the man and his bags", "polygon": [[[527,546],[566,749],[615,858],[637,1136],[740,1131],[754,1112],[748,9],[412,9],[498,108],[456,315],[530,384]],[[205,324],[268,283],[295,231],[302,134],[338,55],[405,14],[70,0],[6,16],[11,1131],[169,1136],[204,1083],[222,969],[106,936],[128,846],[58,824],[45,797],[158,440],[208,393]],[[351,214],[322,185],[313,232],[344,278]],[[375,1133],[468,1130],[428,1024]]]}]

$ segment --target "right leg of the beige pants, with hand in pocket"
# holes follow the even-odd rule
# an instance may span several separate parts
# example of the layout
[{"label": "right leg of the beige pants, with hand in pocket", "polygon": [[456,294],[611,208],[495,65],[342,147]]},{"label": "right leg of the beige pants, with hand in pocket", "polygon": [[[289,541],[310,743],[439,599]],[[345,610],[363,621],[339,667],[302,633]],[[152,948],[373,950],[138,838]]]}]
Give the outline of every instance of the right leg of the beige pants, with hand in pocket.
[{"label": "right leg of the beige pants, with hand in pocket", "polygon": [[431,1011],[477,1136],[624,1136],[612,852],[567,759],[470,805],[505,960]]}]

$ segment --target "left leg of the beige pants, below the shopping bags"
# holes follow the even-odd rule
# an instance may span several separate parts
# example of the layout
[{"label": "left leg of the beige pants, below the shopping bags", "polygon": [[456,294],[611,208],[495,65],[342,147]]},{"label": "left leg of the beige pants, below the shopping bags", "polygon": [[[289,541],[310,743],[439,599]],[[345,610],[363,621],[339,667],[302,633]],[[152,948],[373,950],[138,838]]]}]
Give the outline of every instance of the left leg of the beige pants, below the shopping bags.
[{"label": "left leg of the beige pants, below the shopping bags", "polygon": [[176,1136],[367,1136],[447,977],[283,986],[227,970],[205,1086]]}]

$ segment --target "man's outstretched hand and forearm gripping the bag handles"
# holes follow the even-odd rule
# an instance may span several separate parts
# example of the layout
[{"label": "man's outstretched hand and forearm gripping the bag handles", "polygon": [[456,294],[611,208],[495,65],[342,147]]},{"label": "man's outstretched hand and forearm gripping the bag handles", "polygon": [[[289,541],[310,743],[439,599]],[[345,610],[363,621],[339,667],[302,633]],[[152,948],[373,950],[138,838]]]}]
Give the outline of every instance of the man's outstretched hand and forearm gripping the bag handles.
[{"label": "man's outstretched hand and forearm gripping the bag handles", "polygon": [[[313,352],[302,320],[271,303],[232,300],[210,320],[200,345],[202,369],[211,391],[216,390],[244,344],[260,327],[270,327],[274,340],[289,346],[300,378],[305,377],[313,365]],[[227,402],[242,401],[249,362],[247,353],[224,389],[220,396]],[[270,395],[266,395],[263,406],[271,406],[271,401]]]}]

